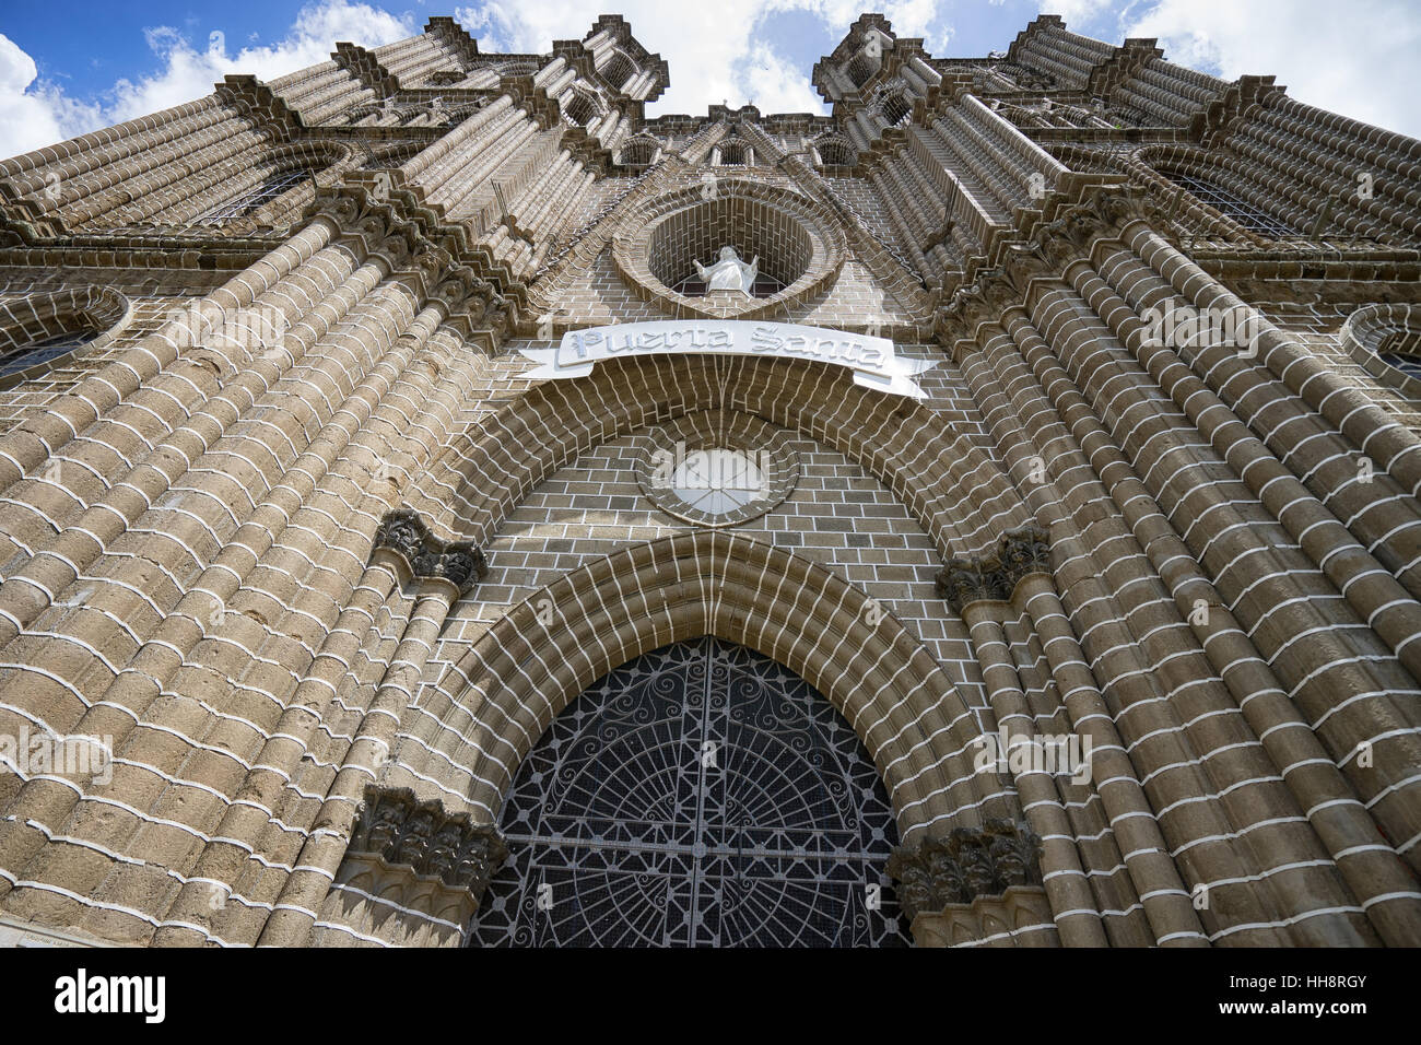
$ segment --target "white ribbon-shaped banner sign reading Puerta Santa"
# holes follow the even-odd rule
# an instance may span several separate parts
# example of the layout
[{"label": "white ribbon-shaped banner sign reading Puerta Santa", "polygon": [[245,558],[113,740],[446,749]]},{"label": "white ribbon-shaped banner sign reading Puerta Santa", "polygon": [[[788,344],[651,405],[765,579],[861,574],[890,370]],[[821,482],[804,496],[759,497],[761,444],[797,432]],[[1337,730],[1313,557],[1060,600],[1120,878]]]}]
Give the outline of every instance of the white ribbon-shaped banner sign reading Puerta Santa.
[{"label": "white ribbon-shaped banner sign reading Puerta Santa", "polygon": [[618,355],[705,353],[713,355],[776,355],[784,360],[834,363],[854,371],[854,382],[891,395],[926,398],[912,378],[931,370],[931,360],[894,355],[892,341],[796,323],[753,320],[658,320],[590,327],[563,334],[557,348],[524,348],[540,364],[523,377],[587,377],[598,360]]}]

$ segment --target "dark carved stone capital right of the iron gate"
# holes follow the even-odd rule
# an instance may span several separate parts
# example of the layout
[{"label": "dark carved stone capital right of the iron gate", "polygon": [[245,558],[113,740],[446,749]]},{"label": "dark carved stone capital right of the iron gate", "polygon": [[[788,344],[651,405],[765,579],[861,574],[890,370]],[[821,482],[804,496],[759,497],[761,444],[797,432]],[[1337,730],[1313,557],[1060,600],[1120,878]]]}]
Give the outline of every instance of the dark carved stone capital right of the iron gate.
[{"label": "dark carved stone capital right of the iron gate", "polygon": [[915,847],[898,846],[888,857],[888,873],[898,881],[898,904],[912,918],[999,896],[1012,886],[1042,884],[1040,847],[1026,823],[988,820]]}]

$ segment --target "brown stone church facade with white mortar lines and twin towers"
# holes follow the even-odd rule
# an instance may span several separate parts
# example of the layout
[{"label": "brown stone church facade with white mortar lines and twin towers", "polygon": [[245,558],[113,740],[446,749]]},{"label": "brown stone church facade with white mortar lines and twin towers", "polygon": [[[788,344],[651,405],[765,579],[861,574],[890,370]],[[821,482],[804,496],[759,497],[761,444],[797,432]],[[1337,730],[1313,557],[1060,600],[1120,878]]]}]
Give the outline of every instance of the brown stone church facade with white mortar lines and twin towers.
[{"label": "brown stone church facade with white mortar lines and twin towers", "polygon": [[813,82],[436,17],[0,162],[0,943],[1421,944],[1421,142]]}]

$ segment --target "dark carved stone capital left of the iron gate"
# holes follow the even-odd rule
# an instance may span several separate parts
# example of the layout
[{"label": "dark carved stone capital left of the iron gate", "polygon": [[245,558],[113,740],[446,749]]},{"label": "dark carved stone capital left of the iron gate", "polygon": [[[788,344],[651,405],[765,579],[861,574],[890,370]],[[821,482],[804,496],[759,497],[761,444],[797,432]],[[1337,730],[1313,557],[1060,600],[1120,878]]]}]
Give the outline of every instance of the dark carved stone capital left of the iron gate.
[{"label": "dark carved stone capital left of the iron gate", "polygon": [[409,788],[365,788],[351,833],[350,856],[378,856],[446,886],[483,896],[509,856],[499,832],[473,823],[468,813],[450,816],[443,803],[419,802]]}]

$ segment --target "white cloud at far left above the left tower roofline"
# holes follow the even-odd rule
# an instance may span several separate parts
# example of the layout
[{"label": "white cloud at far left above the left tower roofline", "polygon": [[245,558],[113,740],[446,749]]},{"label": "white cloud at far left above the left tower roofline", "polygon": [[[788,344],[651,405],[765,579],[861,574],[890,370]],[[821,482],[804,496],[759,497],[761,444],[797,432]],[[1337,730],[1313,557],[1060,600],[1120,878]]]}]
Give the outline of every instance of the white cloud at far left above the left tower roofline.
[{"label": "white cloud at far left above the left tower roofline", "polygon": [[229,73],[276,80],[328,60],[337,40],[379,47],[419,31],[408,14],[394,16],[348,0],[303,7],[286,37],[236,54],[227,54],[220,31],[202,41],[199,50],[179,30],[158,26],[144,34],[162,63],[159,71],[136,81],[119,80],[97,102],[75,101],[60,87],[40,81],[34,60],[0,36],[0,156],[202,98]]}]

